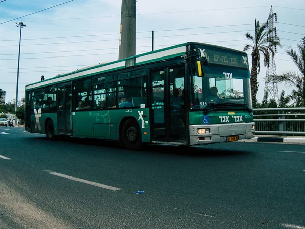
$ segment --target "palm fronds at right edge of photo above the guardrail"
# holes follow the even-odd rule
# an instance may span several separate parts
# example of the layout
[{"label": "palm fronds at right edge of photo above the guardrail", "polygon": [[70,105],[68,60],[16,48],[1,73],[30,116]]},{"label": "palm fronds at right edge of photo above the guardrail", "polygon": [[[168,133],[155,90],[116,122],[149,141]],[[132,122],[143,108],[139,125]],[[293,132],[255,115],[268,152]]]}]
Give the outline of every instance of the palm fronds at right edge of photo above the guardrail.
[{"label": "palm fronds at right edge of photo above the guardrail", "polygon": [[[294,89],[289,95],[289,100],[294,101],[296,106],[305,107],[305,37],[297,44],[298,52],[292,47],[285,49],[286,53],[291,57],[299,72],[286,71],[282,75],[273,77],[273,81],[288,84],[289,87]],[[266,79],[270,81],[271,79]]]}]

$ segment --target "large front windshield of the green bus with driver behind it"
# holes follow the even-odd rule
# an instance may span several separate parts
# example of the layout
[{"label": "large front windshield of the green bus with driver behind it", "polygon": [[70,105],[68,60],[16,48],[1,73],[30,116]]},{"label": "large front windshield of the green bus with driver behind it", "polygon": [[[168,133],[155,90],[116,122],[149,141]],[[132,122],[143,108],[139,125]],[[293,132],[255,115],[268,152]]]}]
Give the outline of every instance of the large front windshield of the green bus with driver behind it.
[{"label": "large front windshield of the green bus with driver behind it", "polygon": [[209,65],[203,68],[204,77],[194,72],[191,75],[190,109],[252,109],[249,70]]}]

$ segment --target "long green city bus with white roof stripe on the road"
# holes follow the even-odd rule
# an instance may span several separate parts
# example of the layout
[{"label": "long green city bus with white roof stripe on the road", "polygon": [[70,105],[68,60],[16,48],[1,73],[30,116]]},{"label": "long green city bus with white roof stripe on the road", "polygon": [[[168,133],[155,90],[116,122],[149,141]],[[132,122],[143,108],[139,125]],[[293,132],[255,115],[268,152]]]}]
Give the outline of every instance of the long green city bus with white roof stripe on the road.
[{"label": "long green city bus with white roof stripe on the road", "polygon": [[247,54],[187,42],[26,85],[25,130],[132,150],[250,139]]}]

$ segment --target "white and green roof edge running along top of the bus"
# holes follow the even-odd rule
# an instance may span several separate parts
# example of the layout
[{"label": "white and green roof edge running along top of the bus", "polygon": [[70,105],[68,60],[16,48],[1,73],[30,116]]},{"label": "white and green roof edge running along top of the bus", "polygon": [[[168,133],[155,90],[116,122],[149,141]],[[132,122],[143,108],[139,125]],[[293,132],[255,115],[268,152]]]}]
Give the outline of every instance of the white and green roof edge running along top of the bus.
[{"label": "white and green roof edge running along top of the bus", "polygon": [[207,46],[207,47],[211,47],[211,48],[218,48],[218,49],[222,49],[222,50],[228,50],[231,52],[239,52],[240,54],[247,55],[245,52],[235,50],[235,49],[225,48],[225,47],[221,47],[221,46],[217,46],[217,45],[210,45],[210,44],[199,43],[199,42],[186,42],[186,43],[170,46],[167,48],[158,49],[156,51],[150,51],[150,52],[146,52],[143,54],[130,56],[125,59],[120,59],[117,61],[110,61],[110,62],[103,62],[103,63],[99,63],[99,64],[93,65],[93,66],[86,66],[84,68],[77,69],[72,72],[58,74],[53,78],[28,84],[28,85],[26,85],[25,89],[29,90],[29,89],[39,88],[39,87],[46,86],[46,85],[52,85],[52,84],[56,84],[56,83],[60,83],[60,82],[65,82],[65,81],[72,80],[75,78],[82,78],[82,77],[94,75],[97,73],[106,73],[106,72],[113,71],[113,70],[124,69],[129,66],[138,66],[138,65],[155,62],[155,61],[159,61],[159,60],[175,58],[175,57],[184,55],[185,52],[187,51],[188,45],[203,45],[203,46]]}]

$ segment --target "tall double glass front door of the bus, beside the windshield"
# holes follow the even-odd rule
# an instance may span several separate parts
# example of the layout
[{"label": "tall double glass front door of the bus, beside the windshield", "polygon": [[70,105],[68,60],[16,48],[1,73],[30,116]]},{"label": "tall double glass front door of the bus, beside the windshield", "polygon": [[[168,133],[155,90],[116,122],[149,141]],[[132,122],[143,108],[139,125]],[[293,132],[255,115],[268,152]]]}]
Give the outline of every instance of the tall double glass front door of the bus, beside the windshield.
[{"label": "tall double glass front door of the bus, beside the windshield", "polygon": [[184,66],[150,72],[152,140],[186,143]]}]

